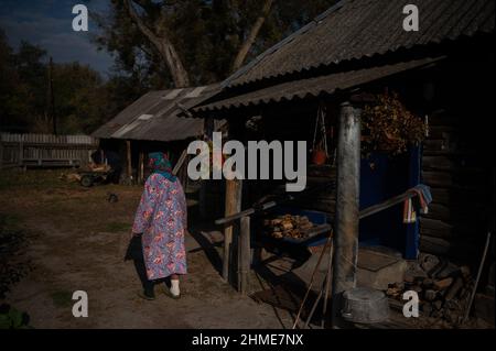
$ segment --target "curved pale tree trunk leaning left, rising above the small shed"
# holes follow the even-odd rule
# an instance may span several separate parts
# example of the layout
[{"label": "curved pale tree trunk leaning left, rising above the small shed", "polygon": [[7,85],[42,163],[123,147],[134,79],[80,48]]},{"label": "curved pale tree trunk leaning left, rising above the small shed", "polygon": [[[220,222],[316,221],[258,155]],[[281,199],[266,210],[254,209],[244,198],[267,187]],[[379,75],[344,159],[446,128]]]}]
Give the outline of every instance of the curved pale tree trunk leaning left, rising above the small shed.
[{"label": "curved pale tree trunk leaning left, rising above the small shed", "polygon": [[174,45],[172,45],[169,37],[165,34],[157,35],[153,33],[141,20],[141,18],[136,13],[132,8],[132,3],[130,0],[125,1],[126,8],[128,9],[129,15],[138,25],[138,29],[143,33],[144,36],[155,46],[159,51],[162,58],[165,61],[165,64],[171,72],[172,79],[174,80],[174,86],[176,88],[185,88],[190,86],[190,78],[187,76],[187,72],[181,62],[181,58],[175,51]]}]

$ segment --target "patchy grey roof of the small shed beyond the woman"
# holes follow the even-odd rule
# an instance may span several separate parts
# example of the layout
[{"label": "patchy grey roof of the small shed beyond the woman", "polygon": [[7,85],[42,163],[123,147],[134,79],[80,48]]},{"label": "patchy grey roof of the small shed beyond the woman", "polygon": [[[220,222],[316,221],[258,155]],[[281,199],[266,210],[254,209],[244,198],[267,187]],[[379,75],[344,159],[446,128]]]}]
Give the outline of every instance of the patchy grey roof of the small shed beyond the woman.
[{"label": "patchy grey roof of the small shed beyond the woman", "polygon": [[[105,139],[174,141],[203,134],[202,119],[180,117],[219,91],[218,85],[150,91],[91,135]],[[180,107],[181,106],[181,107]]]}]

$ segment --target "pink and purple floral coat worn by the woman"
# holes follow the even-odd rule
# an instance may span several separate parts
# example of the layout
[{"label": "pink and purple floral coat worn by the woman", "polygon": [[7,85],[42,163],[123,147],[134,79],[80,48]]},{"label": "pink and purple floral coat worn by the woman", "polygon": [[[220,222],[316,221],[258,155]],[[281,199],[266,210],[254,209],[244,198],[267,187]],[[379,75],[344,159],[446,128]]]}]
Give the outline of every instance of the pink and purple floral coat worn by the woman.
[{"label": "pink and purple floral coat worn by the woman", "polygon": [[132,232],[142,233],[143,259],[149,279],[186,274],[186,199],[179,180],[171,182],[158,173],[148,177]]}]

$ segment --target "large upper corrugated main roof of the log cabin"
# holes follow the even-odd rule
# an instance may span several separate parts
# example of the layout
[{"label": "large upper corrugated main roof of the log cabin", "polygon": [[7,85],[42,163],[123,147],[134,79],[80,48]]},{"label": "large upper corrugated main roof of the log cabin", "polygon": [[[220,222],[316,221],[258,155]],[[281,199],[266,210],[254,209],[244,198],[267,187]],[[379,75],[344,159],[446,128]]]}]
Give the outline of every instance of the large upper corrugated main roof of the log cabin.
[{"label": "large upper corrugated main roof of the log cabin", "polygon": [[[403,7],[419,9],[419,31],[402,28]],[[230,76],[239,86],[417,45],[494,32],[494,0],[342,0]]]}]

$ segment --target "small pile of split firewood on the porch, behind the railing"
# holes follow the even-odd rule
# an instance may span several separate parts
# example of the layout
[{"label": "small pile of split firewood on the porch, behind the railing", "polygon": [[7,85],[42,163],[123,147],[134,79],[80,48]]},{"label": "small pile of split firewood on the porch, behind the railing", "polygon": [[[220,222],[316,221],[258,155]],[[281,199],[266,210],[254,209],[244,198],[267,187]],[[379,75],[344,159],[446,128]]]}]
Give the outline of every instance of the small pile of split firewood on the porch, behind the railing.
[{"label": "small pile of split firewood on the porch, behind the railing", "polygon": [[306,216],[283,215],[273,219],[266,219],[265,231],[276,239],[304,239],[314,224]]}]

